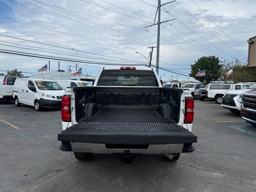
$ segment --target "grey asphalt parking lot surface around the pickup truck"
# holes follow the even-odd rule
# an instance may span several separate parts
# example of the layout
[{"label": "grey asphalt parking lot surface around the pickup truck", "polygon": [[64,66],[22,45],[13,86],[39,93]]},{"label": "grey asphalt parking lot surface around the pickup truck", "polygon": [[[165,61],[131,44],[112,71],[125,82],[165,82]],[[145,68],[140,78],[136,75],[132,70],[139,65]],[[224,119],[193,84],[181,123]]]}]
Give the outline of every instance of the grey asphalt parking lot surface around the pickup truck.
[{"label": "grey asphalt parking lot surface around the pickup truck", "polygon": [[0,191],[255,191],[256,137],[237,127],[253,126],[215,102],[196,100],[196,150],[176,163],[139,155],[122,164],[102,154],[79,162],[58,149],[60,110],[1,104]]}]

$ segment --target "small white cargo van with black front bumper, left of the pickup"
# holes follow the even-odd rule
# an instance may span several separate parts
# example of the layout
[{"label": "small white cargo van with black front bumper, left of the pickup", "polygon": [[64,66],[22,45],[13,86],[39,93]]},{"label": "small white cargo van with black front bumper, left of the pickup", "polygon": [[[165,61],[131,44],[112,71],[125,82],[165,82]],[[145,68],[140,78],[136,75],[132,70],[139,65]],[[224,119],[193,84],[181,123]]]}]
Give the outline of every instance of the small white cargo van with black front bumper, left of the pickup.
[{"label": "small white cargo van with black front bumper, left of the pickup", "polygon": [[15,106],[27,104],[36,111],[44,107],[61,108],[61,99],[64,90],[52,80],[17,79],[13,86],[13,99]]}]

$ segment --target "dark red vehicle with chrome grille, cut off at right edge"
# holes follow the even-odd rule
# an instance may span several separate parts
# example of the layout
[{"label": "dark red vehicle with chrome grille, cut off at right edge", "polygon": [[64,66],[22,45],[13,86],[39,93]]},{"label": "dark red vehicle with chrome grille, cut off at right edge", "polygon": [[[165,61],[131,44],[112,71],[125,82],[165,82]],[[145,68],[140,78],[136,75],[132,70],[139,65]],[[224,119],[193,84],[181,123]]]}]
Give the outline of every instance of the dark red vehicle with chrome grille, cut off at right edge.
[{"label": "dark red vehicle with chrome grille, cut off at right edge", "polygon": [[256,83],[242,96],[241,116],[246,122],[256,125]]}]

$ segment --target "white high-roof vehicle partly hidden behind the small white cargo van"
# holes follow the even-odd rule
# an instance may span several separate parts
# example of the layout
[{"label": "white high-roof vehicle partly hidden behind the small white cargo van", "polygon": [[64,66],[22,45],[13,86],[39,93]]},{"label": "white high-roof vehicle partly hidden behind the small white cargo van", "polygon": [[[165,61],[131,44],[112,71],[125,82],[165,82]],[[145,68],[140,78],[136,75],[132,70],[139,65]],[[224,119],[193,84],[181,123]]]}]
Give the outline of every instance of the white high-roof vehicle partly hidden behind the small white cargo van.
[{"label": "white high-roof vehicle partly hidden behind the small white cargo van", "polygon": [[71,79],[69,72],[65,72],[64,70],[38,72],[36,74],[31,74],[29,78],[48,79],[53,81]]}]

